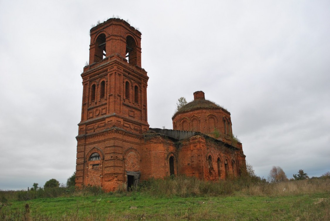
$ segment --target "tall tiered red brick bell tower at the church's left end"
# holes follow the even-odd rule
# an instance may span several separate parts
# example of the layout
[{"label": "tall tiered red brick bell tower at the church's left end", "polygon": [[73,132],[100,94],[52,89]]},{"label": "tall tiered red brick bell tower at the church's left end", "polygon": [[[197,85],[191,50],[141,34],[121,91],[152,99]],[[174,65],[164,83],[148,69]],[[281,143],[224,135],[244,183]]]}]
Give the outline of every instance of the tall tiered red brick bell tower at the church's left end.
[{"label": "tall tiered red brick bell tower at the church's left end", "polygon": [[141,68],[141,32],[121,19],[91,28],[89,64],[81,76],[76,186],[112,190],[125,182],[124,171],[139,171],[128,168],[124,152],[138,149],[134,143],[149,129],[149,77]]}]

